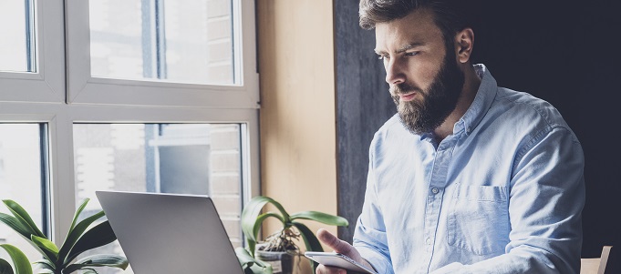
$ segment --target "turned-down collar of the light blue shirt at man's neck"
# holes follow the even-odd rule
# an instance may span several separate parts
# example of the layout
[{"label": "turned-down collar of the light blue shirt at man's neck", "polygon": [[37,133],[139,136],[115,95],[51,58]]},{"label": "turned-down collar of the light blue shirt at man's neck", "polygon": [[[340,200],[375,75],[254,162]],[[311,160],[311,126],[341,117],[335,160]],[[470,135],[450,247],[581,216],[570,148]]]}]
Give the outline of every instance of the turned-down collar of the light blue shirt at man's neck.
[{"label": "turned-down collar of the light blue shirt at man's neck", "polygon": [[453,134],[465,130],[467,135],[479,126],[479,123],[485,117],[487,110],[492,106],[492,102],[496,97],[496,89],[498,88],[496,79],[493,78],[490,70],[483,64],[474,65],[474,71],[477,76],[481,77],[481,85],[477,90],[477,95],[466,113],[461,117],[460,121],[455,123]]}]

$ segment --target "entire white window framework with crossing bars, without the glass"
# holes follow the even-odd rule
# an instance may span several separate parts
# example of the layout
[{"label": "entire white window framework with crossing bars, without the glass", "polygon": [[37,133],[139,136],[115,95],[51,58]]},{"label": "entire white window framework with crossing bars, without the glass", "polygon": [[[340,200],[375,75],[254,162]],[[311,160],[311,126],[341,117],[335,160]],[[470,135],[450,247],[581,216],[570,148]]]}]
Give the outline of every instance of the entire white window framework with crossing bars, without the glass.
[{"label": "entire white window framework with crossing bars, without the glass", "polygon": [[[90,56],[88,1],[35,1],[38,7],[36,36],[39,41],[39,71],[30,74],[0,73],[0,85],[3,86],[3,92],[0,92],[0,123],[36,122],[48,125],[48,202],[51,208],[50,228],[57,244],[66,237],[77,207],[74,123],[243,124],[243,202],[259,194],[259,83],[254,1],[233,0],[233,10],[241,11],[236,18],[241,20],[238,29],[241,35],[237,44],[242,53],[239,56],[241,83],[234,86],[91,77],[89,61],[84,61]],[[63,17],[63,10],[66,10],[66,17]],[[58,39],[63,36],[64,40]],[[79,58],[82,61],[77,60]],[[37,193],[35,197],[41,196]]]}]

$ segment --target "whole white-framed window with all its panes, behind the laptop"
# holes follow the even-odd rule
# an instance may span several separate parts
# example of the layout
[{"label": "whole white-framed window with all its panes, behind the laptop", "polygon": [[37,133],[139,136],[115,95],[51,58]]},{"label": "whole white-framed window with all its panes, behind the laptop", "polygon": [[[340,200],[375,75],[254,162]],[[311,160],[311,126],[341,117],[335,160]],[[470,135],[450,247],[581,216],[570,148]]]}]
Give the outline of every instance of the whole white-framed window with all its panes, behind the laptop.
[{"label": "whole white-framed window with all its panes, behind the laptop", "polygon": [[2,198],[61,243],[95,190],[207,194],[241,245],[258,194],[254,1],[1,2]]}]

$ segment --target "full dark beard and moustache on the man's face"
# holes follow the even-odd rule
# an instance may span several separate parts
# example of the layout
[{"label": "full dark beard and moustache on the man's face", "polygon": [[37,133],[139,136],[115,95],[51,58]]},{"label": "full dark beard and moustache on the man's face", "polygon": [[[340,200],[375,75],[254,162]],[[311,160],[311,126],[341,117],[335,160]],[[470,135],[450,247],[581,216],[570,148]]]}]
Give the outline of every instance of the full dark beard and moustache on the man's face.
[{"label": "full dark beard and moustache on the man's face", "polygon": [[[455,54],[447,51],[440,72],[427,90],[402,83],[390,86],[390,95],[397,105],[401,123],[414,134],[422,135],[440,127],[457,107],[465,76],[455,63]],[[422,98],[401,102],[399,94],[416,92]]]}]

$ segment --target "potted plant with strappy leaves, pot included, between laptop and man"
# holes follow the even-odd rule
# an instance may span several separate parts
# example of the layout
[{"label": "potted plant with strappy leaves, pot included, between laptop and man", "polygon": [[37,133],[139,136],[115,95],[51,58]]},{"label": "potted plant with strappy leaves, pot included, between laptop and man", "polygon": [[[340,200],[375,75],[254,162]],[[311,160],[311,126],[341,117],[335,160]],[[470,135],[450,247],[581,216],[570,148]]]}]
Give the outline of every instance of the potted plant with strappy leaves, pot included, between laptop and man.
[{"label": "potted plant with strappy leaves, pot included, between laptop and man", "polygon": [[[278,212],[261,213],[264,206],[268,203],[274,205]],[[264,242],[257,248],[259,229],[267,218],[276,218],[283,226],[266,237]],[[289,214],[273,198],[257,196],[242,211],[242,230],[248,244],[248,252],[246,254],[256,259],[256,264],[260,265],[264,261],[269,262],[274,273],[292,273],[295,256],[299,255],[300,252],[299,247],[295,244],[297,240],[300,238],[304,240],[306,251],[324,250],[315,233],[306,227],[305,224],[298,222],[300,219],[315,220],[331,226],[349,225],[346,218],[317,211],[302,211]],[[256,268],[257,266],[254,265],[254,267]],[[312,263],[312,267],[315,272],[315,262]]]}]

